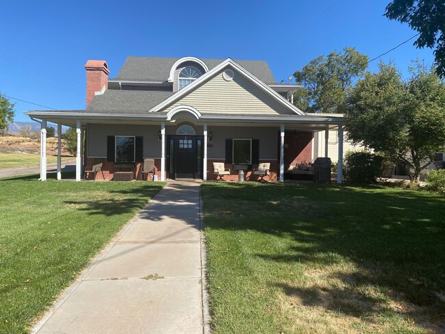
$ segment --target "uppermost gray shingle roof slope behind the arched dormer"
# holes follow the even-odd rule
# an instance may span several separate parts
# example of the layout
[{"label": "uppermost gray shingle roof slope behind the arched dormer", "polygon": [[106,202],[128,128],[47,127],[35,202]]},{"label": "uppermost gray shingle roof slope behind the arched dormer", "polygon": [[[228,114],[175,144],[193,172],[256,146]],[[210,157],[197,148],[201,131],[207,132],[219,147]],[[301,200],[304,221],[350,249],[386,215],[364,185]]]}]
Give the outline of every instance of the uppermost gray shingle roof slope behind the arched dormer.
[{"label": "uppermost gray shingle roof slope behind the arched dormer", "polygon": [[[134,57],[129,56],[115,79],[166,81],[170,68],[181,58],[168,57]],[[201,59],[209,70],[223,62],[223,59]],[[265,84],[276,84],[275,77],[264,60],[235,60],[238,64],[255,75]]]}]

